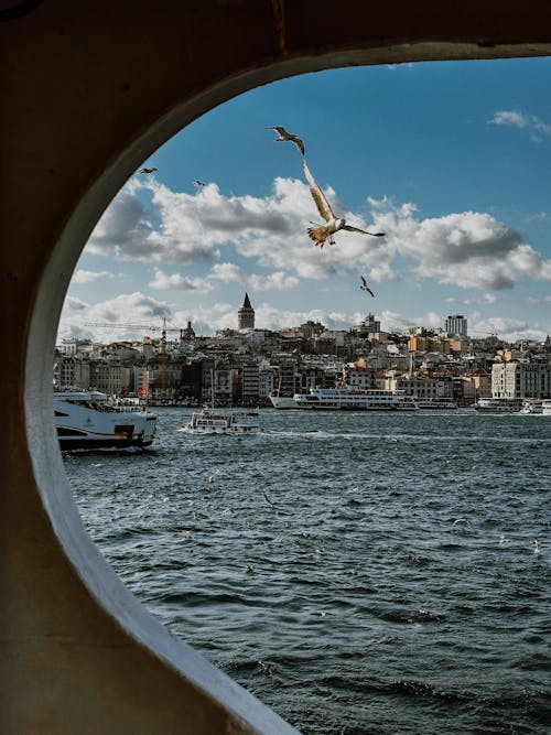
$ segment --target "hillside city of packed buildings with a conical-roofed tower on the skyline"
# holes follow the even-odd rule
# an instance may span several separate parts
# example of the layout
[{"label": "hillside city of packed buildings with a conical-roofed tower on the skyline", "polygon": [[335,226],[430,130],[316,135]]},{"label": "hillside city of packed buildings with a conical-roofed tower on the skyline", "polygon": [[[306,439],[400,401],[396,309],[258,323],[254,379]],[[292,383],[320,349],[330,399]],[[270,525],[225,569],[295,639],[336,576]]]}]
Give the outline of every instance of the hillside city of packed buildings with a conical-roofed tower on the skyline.
[{"label": "hillside city of packed buildings with a conical-roofed tower on the skyline", "polygon": [[54,387],[141,397],[152,406],[262,407],[271,406],[270,393],[339,385],[460,406],[490,396],[551,398],[549,335],[543,343],[508,344],[495,334],[472,338],[462,314],[449,315],[439,329],[385,332],[371,313],[348,329],[309,321],[276,332],[255,326],[248,294],[236,322],[235,329],[212,336],[196,335],[188,321],[184,328],[150,327],[160,335],[140,341],[63,339],[55,349]]}]

